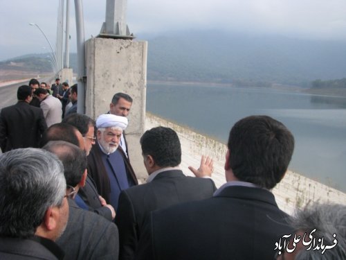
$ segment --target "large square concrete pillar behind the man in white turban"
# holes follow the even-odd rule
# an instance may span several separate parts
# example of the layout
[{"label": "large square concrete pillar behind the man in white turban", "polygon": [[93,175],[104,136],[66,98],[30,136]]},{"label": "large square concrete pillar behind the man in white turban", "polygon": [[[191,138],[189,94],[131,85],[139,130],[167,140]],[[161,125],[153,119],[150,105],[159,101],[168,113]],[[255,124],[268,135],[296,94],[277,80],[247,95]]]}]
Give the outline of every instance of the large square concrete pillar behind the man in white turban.
[{"label": "large square concrete pillar behind the man in white turban", "polygon": [[134,99],[125,130],[129,157],[138,179],[147,177],[139,144],[145,130],[147,42],[91,38],[86,41],[85,52],[85,114],[96,119],[108,112],[117,92]]}]

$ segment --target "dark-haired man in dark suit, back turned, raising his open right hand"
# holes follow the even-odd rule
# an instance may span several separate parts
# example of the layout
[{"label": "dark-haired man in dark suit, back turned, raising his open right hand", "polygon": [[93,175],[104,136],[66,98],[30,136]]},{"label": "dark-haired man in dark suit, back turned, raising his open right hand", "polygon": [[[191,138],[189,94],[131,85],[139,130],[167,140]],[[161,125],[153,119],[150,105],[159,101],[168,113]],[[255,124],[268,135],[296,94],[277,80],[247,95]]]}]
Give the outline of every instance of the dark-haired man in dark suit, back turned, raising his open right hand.
[{"label": "dark-haired man in dark suit, back turned, raising his open right hand", "polygon": [[[209,178],[187,177],[179,168],[181,145],[171,128],[152,128],[140,138],[147,183],[120,193],[116,224],[120,259],[133,259],[145,218],[150,211],[170,205],[211,198],[216,187]],[[212,171],[212,160],[201,166]]]}]

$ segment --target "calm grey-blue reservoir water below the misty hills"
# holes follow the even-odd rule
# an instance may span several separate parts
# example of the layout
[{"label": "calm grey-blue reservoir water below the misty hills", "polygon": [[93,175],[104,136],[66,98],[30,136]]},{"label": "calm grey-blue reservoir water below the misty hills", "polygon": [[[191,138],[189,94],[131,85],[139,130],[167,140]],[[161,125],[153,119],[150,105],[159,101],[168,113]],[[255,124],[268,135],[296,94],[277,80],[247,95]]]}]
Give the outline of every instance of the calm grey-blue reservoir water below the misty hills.
[{"label": "calm grey-blue reservoir water below the misty hills", "polygon": [[244,116],[266,114],[295,137],[292,171],[346,192],[346,97],[202,84],[147,85],[147,111],[226,144]]}]

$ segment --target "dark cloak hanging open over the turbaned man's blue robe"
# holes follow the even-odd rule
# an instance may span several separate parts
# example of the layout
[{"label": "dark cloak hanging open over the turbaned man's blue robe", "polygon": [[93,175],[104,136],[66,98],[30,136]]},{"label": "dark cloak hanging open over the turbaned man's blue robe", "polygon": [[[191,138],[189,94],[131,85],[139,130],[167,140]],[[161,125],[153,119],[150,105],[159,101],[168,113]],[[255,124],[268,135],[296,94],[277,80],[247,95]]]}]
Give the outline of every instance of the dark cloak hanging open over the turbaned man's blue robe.
[{"label": "dark cloak hanging open over the turbaned man's blue robe", "polygon": [[[133,182],[134,184],[138,184],[136,174],[134,173],[134,169],[132,168],[129,159],[125,156],[120,146],[118,146],[118,150],[120,151],[120,154],[124,159],[125,168],[127,171],[127,179],[130,180],[130,182]],[[90,154],[88,156],[88,174],[95,182],[100,195],[107,202],[109,202],[109,193],[111,192],[111,188],[109,184],[109,177],[107,175],[106,168],[104,167],[104,164],[102,162],[101,156],[102,151],[100,149],[98,141],[96,141],[96,144],[93,145],[93,148],[91,148]]]}]

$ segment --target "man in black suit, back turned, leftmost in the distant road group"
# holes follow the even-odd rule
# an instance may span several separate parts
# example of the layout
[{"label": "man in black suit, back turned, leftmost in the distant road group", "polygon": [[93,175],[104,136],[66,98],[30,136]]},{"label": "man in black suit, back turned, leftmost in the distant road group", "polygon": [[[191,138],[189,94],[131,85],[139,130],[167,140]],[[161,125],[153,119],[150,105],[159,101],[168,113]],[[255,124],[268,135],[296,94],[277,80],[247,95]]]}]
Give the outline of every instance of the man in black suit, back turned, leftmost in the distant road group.
[{"label": "man in black suit, back turned, leftmost in the distant road group", "polygon": [[0,112],[0,146],[3,153],[16,148],[39,147],[47,128],[42,109],[29,105],[31,88],[22,85],[17,90],[18,103]]}]

